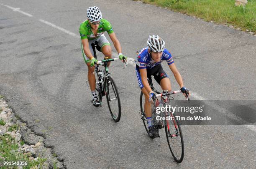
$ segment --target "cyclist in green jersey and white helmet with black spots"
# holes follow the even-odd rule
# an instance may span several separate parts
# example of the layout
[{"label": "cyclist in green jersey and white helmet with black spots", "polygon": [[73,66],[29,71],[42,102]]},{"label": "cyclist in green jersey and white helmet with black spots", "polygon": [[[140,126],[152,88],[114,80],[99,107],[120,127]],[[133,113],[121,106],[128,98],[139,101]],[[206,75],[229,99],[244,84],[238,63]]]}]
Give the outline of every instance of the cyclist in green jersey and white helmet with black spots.
[{"label": "cyclist in green jersey and white helmet with black spots", "polygon": [[108,32],[108,35],[118,52],[119,59],[123,60],[123,57],[125,57],[126,60],[127,57],[122,54],[120,42],[115,36],[110,22],[102,18],[101,11],[98,7],[89,7],[87,9],[87,20],[80,25],[79,33],[81,36],[82,54],[88,67],[88,81],[92,92],[92,104],[95,107],[98,107],[100,103],[98,101],[97,93],[95,92],[96,80],[94,75],[94,63],[95,61],[97,62],[97,60],[93,56],[92,43],[97,41],[104,56],[111,58],[110,43],[103,34],[105,31]]}]

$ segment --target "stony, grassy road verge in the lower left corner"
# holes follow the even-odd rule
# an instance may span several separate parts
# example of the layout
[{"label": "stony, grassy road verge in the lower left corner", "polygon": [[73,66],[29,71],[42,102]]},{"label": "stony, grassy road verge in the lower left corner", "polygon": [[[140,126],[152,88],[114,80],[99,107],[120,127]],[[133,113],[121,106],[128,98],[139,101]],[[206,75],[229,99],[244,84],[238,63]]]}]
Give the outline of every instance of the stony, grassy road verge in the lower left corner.
[{"label": "stony, grassy road verge in the lower left corner", "polygon": [[[6,162],[16,162],[16,164],[23,162],[23,164],[27,164],[22,166],[23,169],[47,168],[47,159],[34,158],[31,152],[25,151],[25,146],[28,145],[20,139],[20,126],[13,123],[11,112],[12,110],[3,100],[3,96],[0,95],[0,169],[18,169],[16,165],[7,166]],[[56,168],[55,164],[54,169]]]}]

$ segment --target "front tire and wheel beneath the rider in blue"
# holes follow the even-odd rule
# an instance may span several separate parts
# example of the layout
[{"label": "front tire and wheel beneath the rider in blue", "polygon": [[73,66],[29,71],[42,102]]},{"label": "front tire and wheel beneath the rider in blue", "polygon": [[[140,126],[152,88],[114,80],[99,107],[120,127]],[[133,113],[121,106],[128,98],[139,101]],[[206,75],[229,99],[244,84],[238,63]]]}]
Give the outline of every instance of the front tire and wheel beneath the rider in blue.
[{"label": "front tire and wheel beneath the rider in blue", "polygon": [[[172,117],[175,117],[175,115],[171,115],[171,112],[168,112],[166,114],[166,117],[168,116],[172,116]],[[172,153],[172,157],[174,158],[174,160],[177,162],[177,163],[181,163],[183,158],[184,158],[184,142],[183,142],[183,135],[182,135],[182,130],[181,130],[181,127],[179,125],[179,121],[176,120],[176,118],[174,118],[174,120],[164,120],[164,128],[165,128],[165,134],[166,134],[166,139],[167,139],[167,142],[168,142],[168,146],[169,146],[169,149]],[[174,129],[174,132],[171,131],[171,128]],[[176,146],[177,146],[177,143],[179,143],[179,149],[181,150],[180,152],[180,156],[178,157],[177,154],[175,154],[175,152],[177,153],[177,151],[174,150],[174,147],[171,146],[171,142],[169,140],[169,138],[173,138],[175,137],[176,138],[180,138],[179,141],[177,141],[176,139]],[[175,143],[173,143],[172,145],[174,145]],[[178,147],[178,146],[177,146]]]}]

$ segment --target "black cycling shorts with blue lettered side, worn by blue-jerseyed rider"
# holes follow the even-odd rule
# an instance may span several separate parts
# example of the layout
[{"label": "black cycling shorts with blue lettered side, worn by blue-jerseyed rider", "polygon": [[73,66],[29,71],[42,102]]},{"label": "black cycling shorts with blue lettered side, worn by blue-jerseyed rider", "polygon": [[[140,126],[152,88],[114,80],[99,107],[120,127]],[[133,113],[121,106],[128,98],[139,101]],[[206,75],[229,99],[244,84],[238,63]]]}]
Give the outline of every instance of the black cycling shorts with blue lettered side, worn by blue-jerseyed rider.
[{"label": "black cycling shorts with blue lettered side, worn by blue-jerseyed rider", "polygon": [[[140,73],[138,65],[136,65],[135,72],[136,72],[136,76],[137,76],[137,80],[138,80],[138,85],[142,89],[144,86],[142,84],[141,73]],[[153,69],[147,69],[147,77],[151,78],[151,75],[154,76],[154,79],[156,80],[156,82],[159,85],[160,85],[160,81],[162,79],[168,77],[166,75],[166,72],[164,72],[163,67],[161,66],[161,64],[156,65],[155,67],[153,67]]]}]

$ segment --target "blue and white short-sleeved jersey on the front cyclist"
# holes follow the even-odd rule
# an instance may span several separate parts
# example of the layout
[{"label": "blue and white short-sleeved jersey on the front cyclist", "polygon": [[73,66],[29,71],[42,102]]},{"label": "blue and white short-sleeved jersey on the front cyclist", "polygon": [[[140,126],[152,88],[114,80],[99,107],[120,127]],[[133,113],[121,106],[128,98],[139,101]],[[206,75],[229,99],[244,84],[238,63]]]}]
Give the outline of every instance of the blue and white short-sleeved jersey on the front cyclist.
[{"label": "blue and white short-sleeved jersey on the front cyclist", "polygon": [[148,47],[140,50],[135,58],[136,65],[138,65],[139,69],[153,69],[156,65],[161,64],[161,62],[163,62],[164,60],[166,60],[168,65],[174,63],[172,55],[167,49],[164,49],[161,60],[154,63],[154,60],[150,57],[150,54],[148,53]]}]

